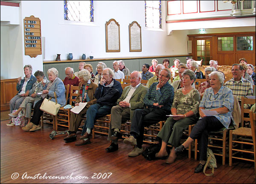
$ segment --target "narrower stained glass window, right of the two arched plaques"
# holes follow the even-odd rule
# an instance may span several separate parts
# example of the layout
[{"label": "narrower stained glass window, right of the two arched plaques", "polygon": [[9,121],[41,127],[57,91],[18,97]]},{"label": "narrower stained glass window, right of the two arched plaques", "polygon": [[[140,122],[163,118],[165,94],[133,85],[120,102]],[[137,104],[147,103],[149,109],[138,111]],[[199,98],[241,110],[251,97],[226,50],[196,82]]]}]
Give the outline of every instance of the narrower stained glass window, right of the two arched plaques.
[{"label": "narrower stained glass window, right of the two arched plaques", "polygon": [[160,0],[145,0],[145,26],[148,28],[162,28]]}]

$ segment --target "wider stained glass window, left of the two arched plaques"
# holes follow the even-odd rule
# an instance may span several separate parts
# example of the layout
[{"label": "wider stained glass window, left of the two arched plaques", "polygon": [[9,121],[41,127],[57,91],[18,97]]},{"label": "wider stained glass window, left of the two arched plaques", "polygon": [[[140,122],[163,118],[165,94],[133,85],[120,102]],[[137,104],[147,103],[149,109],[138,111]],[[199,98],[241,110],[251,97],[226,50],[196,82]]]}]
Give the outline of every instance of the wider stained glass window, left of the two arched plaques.
[{"label": "wider stained glass window, left of the two arched plaques", "polygon": [[64,0],[64,20],[94,22],[93,0]]}]

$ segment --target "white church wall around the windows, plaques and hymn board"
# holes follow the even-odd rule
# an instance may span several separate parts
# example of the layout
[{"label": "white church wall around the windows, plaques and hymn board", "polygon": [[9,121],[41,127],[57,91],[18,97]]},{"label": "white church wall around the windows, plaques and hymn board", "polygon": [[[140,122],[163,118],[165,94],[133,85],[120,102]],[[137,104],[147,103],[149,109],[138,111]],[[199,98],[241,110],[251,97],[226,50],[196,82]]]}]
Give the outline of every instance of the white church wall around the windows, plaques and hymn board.
[{"label": "white church wall around the windows, plaques and hymn board", "polygon": [[[20,25],[1,26],[1,79],[23,76],[23,66],[26,64],[33,66],[33,73],[43,70],[43,55],[36,58],[24,55],[23,19],[31,15],[41,20],[41,36],[45,37],[45,60],[55,60],[56,54],[61,54],[61,60],[66,60],[69,53],[73,53],[73,59],[80,59],[84,53],[87,58],[90,55],[94,58],[115,58],[187,54],[187,35],[194,34],[191,33],[193,30],[167,31],[167,25],[171,26],[172,23],[166,24],[165,21],[165,1],[162,1],[163,29],[160,31],[145,28],[144,0],[93,2],[94,23],[88,26],[64,21],[62,0],[22,0],[19,8]],[[1,9],[5,7],[1,6]],[[121,51],[106,53],[105,23],[111,18],[120,25]],[[128,25],[134,20],[142,27],[142,52],[129,52]],[[234,26],[239,26],[239,23]],[[241,31],[247,31],[246,27]]]}]

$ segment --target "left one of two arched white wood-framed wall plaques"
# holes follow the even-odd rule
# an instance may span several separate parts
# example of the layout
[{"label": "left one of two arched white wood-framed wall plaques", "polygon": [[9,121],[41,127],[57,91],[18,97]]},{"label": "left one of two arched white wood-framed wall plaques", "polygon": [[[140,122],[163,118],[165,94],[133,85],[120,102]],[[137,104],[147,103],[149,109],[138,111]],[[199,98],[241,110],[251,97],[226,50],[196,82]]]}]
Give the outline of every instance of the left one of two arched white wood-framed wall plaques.
[{"label": "left one of two arched white wood-framed wall plaques", "polygon": [[120,26],[114,19],[105,23],[106,52],[120,52]]}]

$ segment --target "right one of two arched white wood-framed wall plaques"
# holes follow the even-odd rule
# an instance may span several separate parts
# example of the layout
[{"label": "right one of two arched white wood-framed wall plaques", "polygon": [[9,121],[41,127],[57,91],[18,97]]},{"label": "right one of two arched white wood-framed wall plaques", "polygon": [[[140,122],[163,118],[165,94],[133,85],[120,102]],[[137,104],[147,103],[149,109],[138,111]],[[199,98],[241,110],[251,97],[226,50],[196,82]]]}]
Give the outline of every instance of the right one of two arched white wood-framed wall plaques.
[{"label": "right one of two arched white wood-framed wall plaques", "polygon": [[141,52],[141,27],[136,21],[129,24],[130,52]]}]

